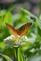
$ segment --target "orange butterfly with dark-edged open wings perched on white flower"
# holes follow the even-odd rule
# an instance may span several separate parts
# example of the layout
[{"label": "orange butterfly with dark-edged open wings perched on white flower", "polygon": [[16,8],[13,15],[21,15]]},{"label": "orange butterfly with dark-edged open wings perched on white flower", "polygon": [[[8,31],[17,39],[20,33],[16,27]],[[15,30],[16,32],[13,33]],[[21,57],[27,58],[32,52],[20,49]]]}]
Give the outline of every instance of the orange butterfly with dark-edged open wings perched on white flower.
[{"label": "orange butterfly with dark-edged open wings perched on white flower", "polygon": [[12,25],[10,24],[6,24],[6,27],[9,29],[9,31],[16,37],[17,35],[19,36],[23,36],[25,35],[28,30],[30,29],[32,23],[27,23],[25,25],[23,25],[21,28],[19,29],[15,29]]}]

